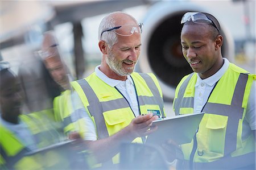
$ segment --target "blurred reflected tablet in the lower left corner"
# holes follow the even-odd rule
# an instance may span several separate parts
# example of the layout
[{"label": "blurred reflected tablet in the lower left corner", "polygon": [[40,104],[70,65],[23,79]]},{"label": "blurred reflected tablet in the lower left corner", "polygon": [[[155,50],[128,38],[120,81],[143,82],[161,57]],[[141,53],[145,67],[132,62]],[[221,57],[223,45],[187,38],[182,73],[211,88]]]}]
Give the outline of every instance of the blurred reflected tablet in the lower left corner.
[{"label": "blurred reflected tablet in the lower left corner", "polygon": [[[77,139],[75,139],[77,140]],[[40,169],[89,169],[85,148],[75,140],[65,140],[27,153]]]}]

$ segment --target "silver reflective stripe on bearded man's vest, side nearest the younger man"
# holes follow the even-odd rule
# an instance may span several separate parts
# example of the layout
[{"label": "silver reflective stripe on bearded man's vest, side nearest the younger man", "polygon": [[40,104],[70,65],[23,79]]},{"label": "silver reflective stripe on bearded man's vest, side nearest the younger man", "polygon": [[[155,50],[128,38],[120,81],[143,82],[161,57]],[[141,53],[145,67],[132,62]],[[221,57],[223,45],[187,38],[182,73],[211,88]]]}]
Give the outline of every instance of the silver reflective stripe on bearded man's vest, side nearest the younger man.
[{"label": "silver reflective stripe on bearded man's vest, side nearest the younger man", "polygon": [[162,113],[162,117],[164,118],[164,111],[163,111],[163,98],[161,97],[158,88],[152,77],[150,77],[146,73],[139,73],[139,75],[144,79],[148,88],[152,92],[152,97],[147,96],[139,96],[139,104],[140,105],[159,105],[160,111]]}]

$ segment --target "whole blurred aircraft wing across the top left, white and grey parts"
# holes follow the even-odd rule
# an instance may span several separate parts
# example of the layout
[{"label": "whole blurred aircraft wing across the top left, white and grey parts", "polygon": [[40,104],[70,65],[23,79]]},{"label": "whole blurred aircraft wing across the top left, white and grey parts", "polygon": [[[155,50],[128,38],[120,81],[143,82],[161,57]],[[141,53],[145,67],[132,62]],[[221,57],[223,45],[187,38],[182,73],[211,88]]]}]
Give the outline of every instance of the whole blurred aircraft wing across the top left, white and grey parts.
[{"label": "whole blurred aircraft wing across the top left, white and grey parts", "polygon": [[0,1],[1,49],[24,43],[24,34],[31,26],[48,22],[50,26],[79,23],[90,16],[120,11],[151,3],[150,0],[93,1]]}]

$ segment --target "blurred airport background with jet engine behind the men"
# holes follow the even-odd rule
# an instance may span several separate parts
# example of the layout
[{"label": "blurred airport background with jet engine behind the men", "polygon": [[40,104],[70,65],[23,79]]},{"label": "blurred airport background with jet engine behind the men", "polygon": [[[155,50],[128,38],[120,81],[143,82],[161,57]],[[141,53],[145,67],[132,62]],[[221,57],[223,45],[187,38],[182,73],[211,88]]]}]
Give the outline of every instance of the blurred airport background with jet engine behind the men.
[{"label": "blurred airport background with jet engine behind the men", "polygon": [[61,57],[75,80],[84,78],[101,62],[101,19],[113,11],[125,11],[144,24],[136,71],[155,73],[171,117],[175,87],[192,72],[181,52],[181,16],[187,11],[216,16],[224,36],[222,55],[255,73],[255,9],[254,0],[0,1],[0,60],[9,61],[15,73],[29,75],[24,80],[31,83],[25,88],[33,91],[28,93],[27,105],[40,105],[44,77],[35,52],[41,48],[44,32],[55,33]]}]

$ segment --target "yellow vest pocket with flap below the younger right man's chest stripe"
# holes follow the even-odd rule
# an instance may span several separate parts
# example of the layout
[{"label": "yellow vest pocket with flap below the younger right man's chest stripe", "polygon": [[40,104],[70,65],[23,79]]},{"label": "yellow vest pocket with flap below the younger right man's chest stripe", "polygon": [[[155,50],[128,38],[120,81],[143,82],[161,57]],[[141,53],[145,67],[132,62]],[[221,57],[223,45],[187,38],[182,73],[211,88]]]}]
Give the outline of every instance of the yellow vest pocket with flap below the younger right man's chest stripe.
[{"label": "yellow vest pocket with flap below the younger right man's chest stripe", "polygon": [[224,153],[228,117],[205,114],[199,127],[198,148],[210,152]]}]

